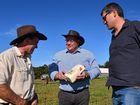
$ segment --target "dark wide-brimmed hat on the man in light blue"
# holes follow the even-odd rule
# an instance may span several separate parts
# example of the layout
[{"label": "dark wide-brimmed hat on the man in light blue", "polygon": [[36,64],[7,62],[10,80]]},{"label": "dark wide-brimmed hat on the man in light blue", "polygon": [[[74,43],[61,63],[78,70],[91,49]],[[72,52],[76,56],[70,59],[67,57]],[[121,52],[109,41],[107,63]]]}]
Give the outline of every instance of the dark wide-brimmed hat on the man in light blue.
[{"label": "dark wide-brimmed hat on the man in light blue", "polygon": [[85,40],[84,38],[75,30],[69,30],[68,34],[65,34],[65,35],[62,35],[64,36],[65,38],[71,36],[71,37],[76,37],[78,40],[80,40],[79,42],[79,46],[83,45]]}]

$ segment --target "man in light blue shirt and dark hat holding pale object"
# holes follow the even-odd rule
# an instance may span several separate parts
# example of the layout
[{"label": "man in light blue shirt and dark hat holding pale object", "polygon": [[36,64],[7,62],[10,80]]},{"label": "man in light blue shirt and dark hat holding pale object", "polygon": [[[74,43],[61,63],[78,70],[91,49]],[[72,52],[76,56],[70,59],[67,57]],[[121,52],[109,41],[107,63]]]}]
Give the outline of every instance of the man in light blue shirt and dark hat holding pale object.
[{"label": "man in light blue shirt and dark hat holding pale object", "polygon": [[[88,105],[89,80],[100,74],[98,64],[91,52],[80,48],[84,44],[84,38],[78,32],[70,30],[63,36],[66,38],[67,49],[56,53],[49,66],[51,79],[60,81],[59,105]],[[85,70],[71,83],[65,73],[76,65],[85,66]]]}]

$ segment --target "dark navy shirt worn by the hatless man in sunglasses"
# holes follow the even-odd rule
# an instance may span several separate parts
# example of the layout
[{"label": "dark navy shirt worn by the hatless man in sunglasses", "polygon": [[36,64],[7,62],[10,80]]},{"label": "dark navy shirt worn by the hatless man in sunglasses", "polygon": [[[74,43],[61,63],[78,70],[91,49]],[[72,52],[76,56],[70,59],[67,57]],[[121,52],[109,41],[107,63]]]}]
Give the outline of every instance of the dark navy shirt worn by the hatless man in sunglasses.
[{"label": "dark navy shirt worn by the hatless man in sunglasses", "polygon": [[109,51],[107,85],[140,86],[140,22],[126,20]]}]

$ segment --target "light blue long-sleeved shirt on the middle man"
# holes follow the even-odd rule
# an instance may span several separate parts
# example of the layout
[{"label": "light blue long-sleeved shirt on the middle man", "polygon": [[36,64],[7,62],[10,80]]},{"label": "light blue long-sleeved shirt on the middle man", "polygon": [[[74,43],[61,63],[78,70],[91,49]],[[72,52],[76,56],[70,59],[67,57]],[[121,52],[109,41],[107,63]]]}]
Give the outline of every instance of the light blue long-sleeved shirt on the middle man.
[{"label": "light blue long-sleeved shirt on the middle man", "polygon": [[[56,64],[56,65],[55,65]],[[49,74],[52,80],[58,71],[68,72],[77,64],[85,66],[90,75],[90,79],[94,79],[101,73],[94,55],[85,49],[78,48],[74,53],[69,53],[67,49],[55,54],[53,64],[49,66]],[[80,90],[89,87],[89,78],[70,83],[68,81],[60,81],[59,88],[65,91]]]}]

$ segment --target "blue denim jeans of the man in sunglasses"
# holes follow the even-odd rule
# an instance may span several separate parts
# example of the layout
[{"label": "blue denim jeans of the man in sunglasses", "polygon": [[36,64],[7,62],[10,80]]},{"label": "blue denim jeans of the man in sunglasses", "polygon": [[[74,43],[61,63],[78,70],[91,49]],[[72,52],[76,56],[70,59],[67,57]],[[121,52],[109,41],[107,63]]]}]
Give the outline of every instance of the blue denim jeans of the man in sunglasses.
[{"label": "blue denim jeans of the man in sunglasses", "polygon": [[140,87],[112,87],[113,105],[140,105]]}]

